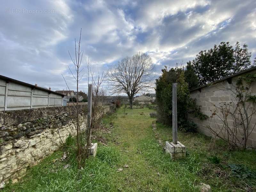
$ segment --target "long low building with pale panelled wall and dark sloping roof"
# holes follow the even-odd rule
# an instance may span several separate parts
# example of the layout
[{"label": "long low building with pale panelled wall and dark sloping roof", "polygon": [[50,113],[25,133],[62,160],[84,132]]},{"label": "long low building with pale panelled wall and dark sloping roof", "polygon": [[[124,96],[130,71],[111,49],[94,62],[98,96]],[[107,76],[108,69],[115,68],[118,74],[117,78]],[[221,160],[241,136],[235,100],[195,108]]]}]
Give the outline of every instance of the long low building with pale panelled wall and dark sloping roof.
[{"label": "long low building with pale panelled wall and dark sloping roof", "polygon": [[62,106],[65,95],[0,75],[0,111]]}]

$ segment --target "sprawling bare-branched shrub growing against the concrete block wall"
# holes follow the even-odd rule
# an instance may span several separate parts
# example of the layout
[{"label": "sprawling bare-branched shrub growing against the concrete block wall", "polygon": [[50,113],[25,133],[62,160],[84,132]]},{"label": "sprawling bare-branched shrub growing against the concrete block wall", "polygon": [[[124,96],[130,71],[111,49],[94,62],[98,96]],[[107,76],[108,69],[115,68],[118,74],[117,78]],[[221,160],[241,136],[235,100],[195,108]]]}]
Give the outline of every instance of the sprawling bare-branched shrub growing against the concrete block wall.
[{"label": "sprawling bare-branched shrub growing against the concrete block wall", "polygon": [[[235,89],[221,87],[222,90],[231,91],[235,95],[231,102],[221,102],[210,116],[215,120],[217,129],[206,126],[215,136],[227,141],[228,148],[247,148],[247,141],[256,123],[256,96],[252,95],[251,85],[256,80],[256,74],[247,74],[239,77]],[[219,119],[221,123],[216,122]]]}]

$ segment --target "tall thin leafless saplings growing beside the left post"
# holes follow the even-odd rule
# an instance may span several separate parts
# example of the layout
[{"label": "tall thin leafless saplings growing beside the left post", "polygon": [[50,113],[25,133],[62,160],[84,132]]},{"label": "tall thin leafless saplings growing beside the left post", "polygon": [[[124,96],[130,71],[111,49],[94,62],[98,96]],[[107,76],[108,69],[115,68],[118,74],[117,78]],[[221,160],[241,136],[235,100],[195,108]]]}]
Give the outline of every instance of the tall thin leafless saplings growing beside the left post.
[{"label": "tall thin leafless saplings growing beside the left post", "polygon": [[[70,70],[72,76],[74,77],[74,79],[76,80],[76,91],[78,93],[78,86],[79,86],[79,82],[81,81],[83,75],[81,75],[81,72],[83,70],[83,68],[81,69],[81,62],[82,62],[82,58],[83,58],[83,53],[84,51],[81,50],[80,47],[80,43],[81,43],[81,33],[82,33],[82,29],[80,31],[80,38],[79,38],[79,42],[76,42],[75,39],[75,59],[72,58],[70,52],[68,52],[72,63],[74,64],[75,67],[75,73],[72,72],[71,68],[68,67],[68,69]],[[77,47],[78,46],[78,47]],[[76,102],[74,102],[73,98],[72,100],[72,105],[70,107],[73,107],[73,111],[75,111],[75,117],[76,118],[71,118],[71,122],[74,125],[75,129],[76,129],[76,133],[73,132],[72,127],[70,127],[70,135],[73,137],[76,137],[76,148],[72,147],[72,146],[67,146],[65,144],[66,147],[70,147],[76,150],[76,159],[77,159],[77,163],[78,163],[78,167],[81,168],[82,167],[82,157],[85,155],[85,157],[87,158],[88,155],[88,148],[91,146],[91,136],[92,136],[92,128],[95,127],[95,122],[99,119],[99,115],[102,112],[102,109],[99,110],[98,108],[98,97],[99,97],[99,90],[101,89],[101,84],[104,81],[104,78],[106,75],[104,75],[104,73],[102,73],[102,75],[100,76],[99,71],[98,71],[98,75],[94,76],[93,70],[90,67],[92,60],[89,59],[88,57],[88,61],[85,60],[85,64],[87,64],[87,68],[88,68],[88,86],[89,86],[89,79],[92,80],[92,90],[93,90],[93,96],[94,96],[94,102],[92,105],[92,114],[90,115],[90,119],[91,119],[91,124],[90,126],[88,126],[87,128],[87,122],[84,121],[84,118],[80,118],[83,113],[80,111],[81,109],[78,107],[78,96],[79,94],[76,95]],[[64,78],[64,76],[62,75],[62,77]],[[65,80],[65,78],[64,78]],[[65,83],[68,87],[67,81],[65,80]],[[70,91],[69,87],[68,90]],[[69,110],[69,108],[68,108]],[[85,113],[84,113],[85,115]],[[58,130],[59,133],[59,130]],[[59,133],[60,136],[60,133]],[[60,137],[61,138],[61,137]],[[62,141],[62,140],[61,140]],[[64,144],[64,141],[62,141],[62,143]]]}]

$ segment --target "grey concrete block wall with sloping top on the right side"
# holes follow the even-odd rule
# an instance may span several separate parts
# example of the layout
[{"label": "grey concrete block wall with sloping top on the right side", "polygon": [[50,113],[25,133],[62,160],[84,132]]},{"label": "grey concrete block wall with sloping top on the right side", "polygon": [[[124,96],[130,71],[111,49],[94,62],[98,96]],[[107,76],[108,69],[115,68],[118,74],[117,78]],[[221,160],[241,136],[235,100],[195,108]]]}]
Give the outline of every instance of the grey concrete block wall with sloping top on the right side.
[{"label": "grey concrete block wall with sloping top on the right side", "polygon": [[[204,86],[201,88],[197,88],[190,92],[191,98],[196,98],[197,105],[201,106],[201,111],[203,114],[207,116],[211,116],[212,112],[215,110],[215,106],[220,106],[221,102],[232,102],[235,95],[236,81],[239,76],[248,74],[248,73],[256,73],[256,69],[249,70],[246,73],[241,73],[238,75],[231,76],[230,78],[226,78],[225,80],[218,81],[212,85]],[[234,92],[232,92],[234,91]],[[251,86],[252,95],[256,95],[256,82],[254,82]],[[194,117],[194,115],[189,115],[188,119],[194,121],[198,125],[198,132],[201,132],[205,135],[212,136],[212,132],[206,126],[211,126],[214,130],[219,131],[218,125],[221,127],[223,122],[214,116],[212,119],[207,118],[205,120],[200,120],[199,118]],[[228,122],[230,125],[233,124],[232,119],[229,119]],[[256,116],[252,117],[251,125],[249,126],[249,131],[252,130],[252,126],[256,123]],[[217,125],[218,124],[218,125]],[[242,136],[239,137],[242,140]],[[256,128],[252,131],[249,140],[248,146],[256,147]]]}]

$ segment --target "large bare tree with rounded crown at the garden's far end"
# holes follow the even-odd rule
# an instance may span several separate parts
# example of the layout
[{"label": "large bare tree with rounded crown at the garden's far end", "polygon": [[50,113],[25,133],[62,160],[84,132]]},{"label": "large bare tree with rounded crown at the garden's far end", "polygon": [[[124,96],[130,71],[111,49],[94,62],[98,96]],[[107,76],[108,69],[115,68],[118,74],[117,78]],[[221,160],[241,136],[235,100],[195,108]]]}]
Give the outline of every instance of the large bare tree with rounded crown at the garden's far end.
[{"label": "large bare tree with rounded crown at the garden's far end", "polygon": [[153,88],[154,69],[155,66],[146,53],[138,52],[132,57],[125,57],[108,72],[109,80],[112,82],[111,92],[126,93],[132,108],[135,94]]}]

